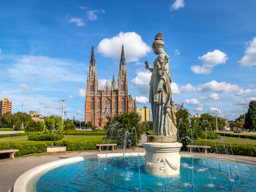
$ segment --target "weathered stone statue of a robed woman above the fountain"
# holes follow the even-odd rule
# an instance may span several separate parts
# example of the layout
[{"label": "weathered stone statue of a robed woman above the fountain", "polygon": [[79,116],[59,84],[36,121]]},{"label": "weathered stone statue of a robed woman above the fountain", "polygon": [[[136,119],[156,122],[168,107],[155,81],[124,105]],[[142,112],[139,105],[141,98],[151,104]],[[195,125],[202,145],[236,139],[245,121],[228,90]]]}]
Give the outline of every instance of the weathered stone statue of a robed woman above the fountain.
[{"label": "weathered stone statue of a robed woman above the fountain", "polygon": [[152,44],[154,53],[154,68],[146,61],[146,69],[152,72],[150,80],[149,102],[154,122],[155,136],[176,136],[175,105],[171,91],[171,76],[169,72],[169,56],[164,52],[162,34],[158,33]]}]

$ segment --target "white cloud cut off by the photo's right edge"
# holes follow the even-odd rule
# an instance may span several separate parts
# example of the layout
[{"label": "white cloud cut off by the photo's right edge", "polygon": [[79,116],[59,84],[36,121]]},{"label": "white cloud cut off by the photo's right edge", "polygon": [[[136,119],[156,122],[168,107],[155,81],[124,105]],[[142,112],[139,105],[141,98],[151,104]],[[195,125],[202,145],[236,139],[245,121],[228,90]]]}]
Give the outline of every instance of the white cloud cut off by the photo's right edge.
[{"label": "white cloud cut off by the photo's right edge", "polygon": [[247,43],[247,45],[243,58],[238,61],[242,67],[256,65],[256,37],[254,37],[251,42]]}]

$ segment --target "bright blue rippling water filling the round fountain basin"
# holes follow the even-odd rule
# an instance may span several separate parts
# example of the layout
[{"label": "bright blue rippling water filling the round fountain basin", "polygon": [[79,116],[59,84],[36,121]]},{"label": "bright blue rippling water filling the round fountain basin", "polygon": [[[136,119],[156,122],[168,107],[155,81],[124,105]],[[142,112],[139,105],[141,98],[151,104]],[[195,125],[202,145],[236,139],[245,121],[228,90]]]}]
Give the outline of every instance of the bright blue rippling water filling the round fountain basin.
[{"label": "bright blue rippling water filling the round fountain basin", "polygon": [[[212,192],[214,187],[216,192],[249,192],[256,186],[256,169],[253,166],[220,161],[220,169],[217,160],[193,158],[192,162],[192,158],[183,157],[179,175],[152,176],[145,172],[144,154],[139,157],[138,154],[126,155],[109,157],[106,161],[105,158],[88,158],[41,172],[33,176],[34,181],[28,182],[26,191],[164,192],[167,188],[167,191],[191,192],[194,186],[194,191]],[[101,157],[105,157],[105,154]]]}]

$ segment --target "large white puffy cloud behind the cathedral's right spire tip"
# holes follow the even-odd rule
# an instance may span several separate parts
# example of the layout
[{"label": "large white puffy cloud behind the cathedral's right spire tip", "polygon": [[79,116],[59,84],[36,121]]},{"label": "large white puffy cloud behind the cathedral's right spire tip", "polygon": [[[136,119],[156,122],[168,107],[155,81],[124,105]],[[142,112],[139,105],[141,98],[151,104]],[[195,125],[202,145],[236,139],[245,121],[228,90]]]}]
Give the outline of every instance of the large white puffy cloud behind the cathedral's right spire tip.
[{"label": "large white puffy cloud behind the cathedral's right spire tip", "polygon": [[136,62],[151,50],[136,32],[120,32],[117,36],[101,40],[97,51],[103,56],[120,59],[122,44],[126,62]]}]

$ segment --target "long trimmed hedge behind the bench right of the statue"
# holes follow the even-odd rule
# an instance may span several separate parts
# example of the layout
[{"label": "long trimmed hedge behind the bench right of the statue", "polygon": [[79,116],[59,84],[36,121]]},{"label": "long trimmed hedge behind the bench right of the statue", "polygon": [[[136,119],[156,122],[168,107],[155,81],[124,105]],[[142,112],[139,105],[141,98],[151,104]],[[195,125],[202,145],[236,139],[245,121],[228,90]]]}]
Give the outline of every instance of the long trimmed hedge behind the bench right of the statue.
[{"label": "long trimmed hedge behind the bench right of the statue", "polygon": [[[254,144],[224,144],[223,142],[214,142],[205,139],[198,138],[194,141],[194,145],[211,146],[207,149],[207,152],[219,154],[234,154],[256,157],[256,145]],[[198,148],[193,148],[195,151],[199,151]]]}]

